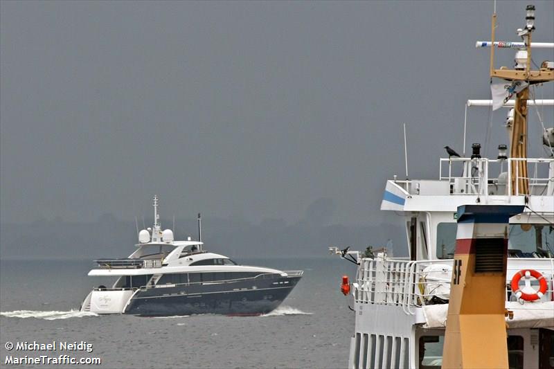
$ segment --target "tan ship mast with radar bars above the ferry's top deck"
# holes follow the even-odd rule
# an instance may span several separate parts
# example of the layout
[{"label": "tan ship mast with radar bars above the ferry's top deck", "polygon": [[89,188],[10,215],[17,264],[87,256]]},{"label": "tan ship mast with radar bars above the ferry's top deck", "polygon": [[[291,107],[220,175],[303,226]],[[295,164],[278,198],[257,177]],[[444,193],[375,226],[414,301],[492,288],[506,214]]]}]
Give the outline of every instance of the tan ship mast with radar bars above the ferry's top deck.
[{"label": "tan ship mast with radar bars above the ferry's top deck", "polygon": [[[513,123],[511,125],[508,123],[510,131],[510,157],[512,159],[525,159],[527,157],[527,100],[529,98],[530,85],[554,80],[554,71],[549,69],[548,65],[542,65],[538,70],[531,69],[531,35],[533,30],[535,30],[535,6],[528,5],[526,12],[526,26],[517,30],[517,34],[524,41],[523,45],[517,45],[519,43],[512,42],[494,42],[497,14],[494,12],[492,15],[490,77],[491,80],[493,77],[507,80],[510,82],[510,84],[506,84],[506,87],[509,89],[508,91],[516,93]],[[519,47],[516,52],[515,61],[517,64],[515,69],[507,69],[505,66],[502,66],[500,69],[494,69],[494,48],[511,48],[516,45],[523,47]],[[544,46],[548,47],[550,45],[546,44]],[[530,195],[527,162],[524,160],[512,161],[510,174],[512,179],[512,193],[510,195]]]}]

